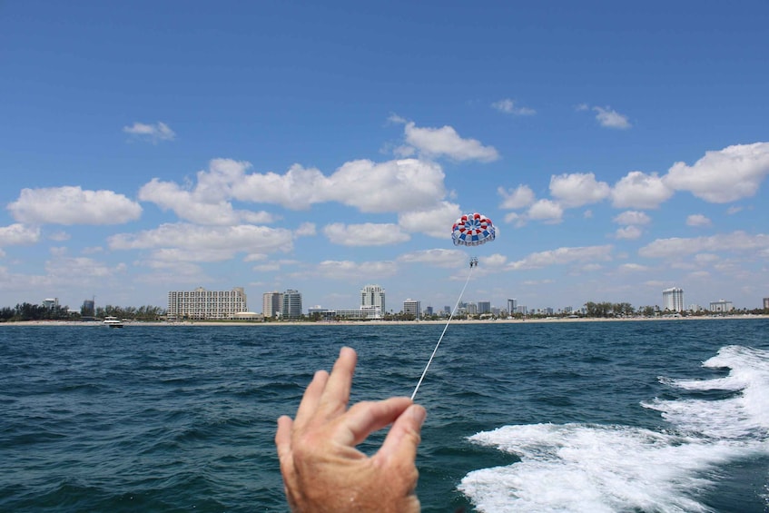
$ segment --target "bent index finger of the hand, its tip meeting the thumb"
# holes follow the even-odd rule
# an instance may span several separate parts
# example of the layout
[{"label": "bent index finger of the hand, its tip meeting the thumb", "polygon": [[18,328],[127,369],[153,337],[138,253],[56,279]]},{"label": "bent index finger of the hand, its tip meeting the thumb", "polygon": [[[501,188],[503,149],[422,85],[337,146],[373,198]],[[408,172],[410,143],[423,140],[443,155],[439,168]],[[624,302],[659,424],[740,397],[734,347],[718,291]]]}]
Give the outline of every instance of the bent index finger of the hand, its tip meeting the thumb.
[{"label": "bent index finger of the hand, its tip meeting the thumb", "polygon": [[347,412],[343,423],[345,429],[340,430],[337,441],[355,447],[374,431],[392,424],[410,404],[411,400],[406,397],[359,402]]}]

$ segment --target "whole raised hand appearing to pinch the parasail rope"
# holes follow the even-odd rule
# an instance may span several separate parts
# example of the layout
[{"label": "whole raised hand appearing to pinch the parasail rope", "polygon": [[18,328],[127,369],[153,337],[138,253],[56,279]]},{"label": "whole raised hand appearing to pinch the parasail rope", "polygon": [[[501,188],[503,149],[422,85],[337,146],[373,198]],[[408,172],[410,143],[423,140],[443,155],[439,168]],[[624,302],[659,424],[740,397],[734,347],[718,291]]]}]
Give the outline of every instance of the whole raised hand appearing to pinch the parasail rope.
[{"label": "whole raised hand appearing to pinch the parasail rope", "polygon": [[[419,511],[415,459],[427,413],[405,397],[363,401],[348,409],[357,360],[355,350],[342,348],[330,375],[315,373],[296,419],[278,419],[275,445],[293,511]],[[389,424],[376,454],[368,457],[355,449]]]}]

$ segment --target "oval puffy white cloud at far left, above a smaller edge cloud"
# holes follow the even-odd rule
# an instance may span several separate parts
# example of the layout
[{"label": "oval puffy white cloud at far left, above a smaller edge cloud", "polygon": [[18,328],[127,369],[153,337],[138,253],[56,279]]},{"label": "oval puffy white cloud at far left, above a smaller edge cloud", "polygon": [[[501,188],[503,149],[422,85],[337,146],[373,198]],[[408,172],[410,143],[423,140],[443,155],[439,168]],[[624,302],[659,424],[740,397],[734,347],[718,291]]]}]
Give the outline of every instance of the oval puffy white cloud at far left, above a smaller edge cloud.
[{"label": "oval puffy white cloud at far left, above a smaller edge cloud", "polygon": [[8,205],[16,221],[29,224],[122,224],[142,215],[142,207],[123,194],[78,187],[22,189]]}]

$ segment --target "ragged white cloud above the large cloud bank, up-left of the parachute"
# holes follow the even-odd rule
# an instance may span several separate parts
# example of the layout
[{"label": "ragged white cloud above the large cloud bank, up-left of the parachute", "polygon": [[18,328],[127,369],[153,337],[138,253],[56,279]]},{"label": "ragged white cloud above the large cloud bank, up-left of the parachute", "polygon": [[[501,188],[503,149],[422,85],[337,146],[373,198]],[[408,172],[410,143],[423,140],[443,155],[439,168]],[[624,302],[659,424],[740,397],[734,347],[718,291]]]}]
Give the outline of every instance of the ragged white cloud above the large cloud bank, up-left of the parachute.
[{"label": "ragged white cloud above the large cloud bank, up-left of the parachute", "polygon": [[429,158],[446,156],[455,161],[496,161],[499,158],[493,146],[484,146],[476,139],[463,139],[450,126],[419,128],[414,122],[406,123],[406,143]]}]

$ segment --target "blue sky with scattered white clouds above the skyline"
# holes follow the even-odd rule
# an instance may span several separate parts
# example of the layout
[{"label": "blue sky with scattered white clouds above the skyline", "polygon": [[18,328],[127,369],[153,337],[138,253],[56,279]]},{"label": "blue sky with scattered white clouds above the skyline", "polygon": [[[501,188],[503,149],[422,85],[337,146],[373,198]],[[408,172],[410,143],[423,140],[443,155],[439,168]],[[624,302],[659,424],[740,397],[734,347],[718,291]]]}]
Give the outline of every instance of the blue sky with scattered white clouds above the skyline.
[{"label": "blue sky with scattered white clouds above the skyline", "polygon": [[[769,4],[5,2],[0,305],[769,296]],[[455,248],[463,212],[495,242]]]}]

